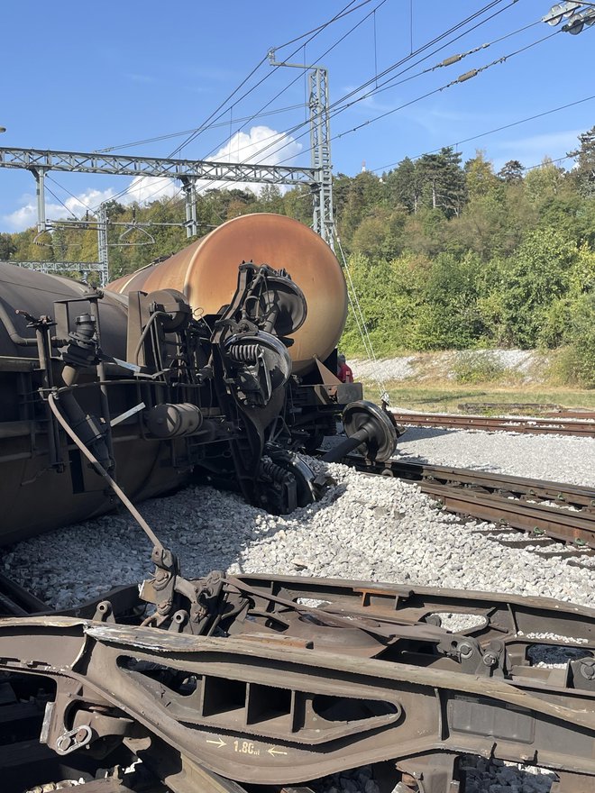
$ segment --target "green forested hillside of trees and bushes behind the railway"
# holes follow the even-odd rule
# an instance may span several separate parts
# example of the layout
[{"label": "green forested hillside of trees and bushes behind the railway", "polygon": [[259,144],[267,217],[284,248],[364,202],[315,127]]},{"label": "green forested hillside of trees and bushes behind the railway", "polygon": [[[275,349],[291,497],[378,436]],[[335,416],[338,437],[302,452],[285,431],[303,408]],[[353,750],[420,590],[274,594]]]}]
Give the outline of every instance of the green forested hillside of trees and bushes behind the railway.
[{"label": "green forested hillside of trees and bushes behind the railway", "polygon": [[[346,275],[377,355],[562,348],[561,377],[595,387],[595,127],[579,136],[572,156],[569,169],[551,160],[524,169],[510,160],[496,173],[481,151],[463,163],[444,148],[382,175],[334,178]],[[185,217],[181,199],[106,208],[112,278],[188,245],[176,225]],[[258,196],[207,190],[198,198],[200,234],[251,212],[309,224],[308,188],[282,195],[264,187]],[[0,234],[0,259],[97,258],[92,227],[35,237],[34,229]],[[363,353],[352,313],[343,347]]]}]

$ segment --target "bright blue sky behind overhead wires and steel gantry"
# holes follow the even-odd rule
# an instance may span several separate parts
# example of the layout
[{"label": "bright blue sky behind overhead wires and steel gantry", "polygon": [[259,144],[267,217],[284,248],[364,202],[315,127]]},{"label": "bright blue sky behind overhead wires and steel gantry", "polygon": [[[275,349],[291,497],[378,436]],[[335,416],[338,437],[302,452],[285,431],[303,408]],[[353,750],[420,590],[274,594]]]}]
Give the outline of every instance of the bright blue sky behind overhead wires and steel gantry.
[{"label": "bright blue sky behind overhead wires and steel gantry", "polygon": [[[0,125],[6,132],[0,135],[0,145],[72,151],[124,147],[114,153],[169,156],[188,134],[132,144],[199,127],[265,59],[215,114],[220,114],[215,125],[178,156],[254,161],[272,141],[257,160],[308,164],[307,127],[287,133],[307,116],[304,73],[271,68],[266,61],[271,47],[279,48],[278,59],[328,68],[331,103],[340,107],[343,96],[487,5],[488,0],[355,0],[349,6],[355,8],[351,14],[314,38],[311,34],[281,46],[340,14],[348,0],[107,0],[98,6],[59,0],[50,11],[33,0],[9,0],[3,7]],[[353,176],[364,161],[367,169],[381,171],[406,156],[450,144],[462,151],[463,160],[478,148],[484,150],[495,169],[510,159],[534,166],[545,156],[555,160],[575,147],[577,135],[595,124],[595,99],[462,142],[595,95],[595,26],[572,36],[541,23],[550,0],[500,0],[491,5],[462,30],[378,81],[382,87],[392,77],[399,84],[363,96],[376,87],[372,79],[369,87],[356,91],[352,99],[360,101],[331,120],[335,173]],[[478,26],[471,30],[474,25]],[[304,47],[307,39],[312,40]],[[453,54],[487,43],[489,47],[453,66],[419,74]],[[504,56],[508,59],[477,77],[436,90]],[[419,100],[426,94],[430,96]],[[265,105],[269,114],[261,115]],[[395,110],[401,105],[407,106]],[[386,115],[374,120],[380,114]],[[562,164],[570,167],[572,161]],[[126,188],[124,201],[170,195],[178,188],[169,182],[142,181],[130,189],[131,180],[125,177],[58,173],[50,173],[47,184],[54,194],[46,195],[52,219],[82,216],[86,207],[93,209]],[[2,168],[0,186],[0,232],[35,223],[32,175]]]}]

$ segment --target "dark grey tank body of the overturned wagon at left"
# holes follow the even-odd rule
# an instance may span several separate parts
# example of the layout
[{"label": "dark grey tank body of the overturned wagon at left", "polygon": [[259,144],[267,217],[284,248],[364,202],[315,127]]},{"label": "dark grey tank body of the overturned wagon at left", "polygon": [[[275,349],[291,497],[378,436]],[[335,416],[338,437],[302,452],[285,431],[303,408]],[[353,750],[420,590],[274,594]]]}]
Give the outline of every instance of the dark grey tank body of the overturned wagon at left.
[{"label": "dark grey tank body of the overturned wagon at left", "polygon": [[[35,330],[28,327],[27,317],[16,314],[16,310],[36,318],[52,314],[55,301],[77,299],[87,291],[88,287],[69,278],[0,264],[0,544],[75,523],[115,506],[105,479],[65,437],[59,447],[62,468],[52,467],[49,414],[39,398],[44,383]],[[125,359],[127,299],[106,293],[99,305],[102,350]],[[70,330],[74,330],[76,315],[96,312],[81,300],[70,304],[69,313]],[[25,340],[28,343],[23,343]],[[63,386],[60,361],[55,360],[51,369],[55,385]],[[138,401],[134,388],[108,390],[116,414]],[[96,387],[82,387],[76,393],[85,412],[98,412]],[[113,431],[116,477],[128,496],[151,497],[182,484],[185,474],[171,467],[169,447],[135,434],[138,436],[134,426],[131,431],[131,424],[120,424]]]}]

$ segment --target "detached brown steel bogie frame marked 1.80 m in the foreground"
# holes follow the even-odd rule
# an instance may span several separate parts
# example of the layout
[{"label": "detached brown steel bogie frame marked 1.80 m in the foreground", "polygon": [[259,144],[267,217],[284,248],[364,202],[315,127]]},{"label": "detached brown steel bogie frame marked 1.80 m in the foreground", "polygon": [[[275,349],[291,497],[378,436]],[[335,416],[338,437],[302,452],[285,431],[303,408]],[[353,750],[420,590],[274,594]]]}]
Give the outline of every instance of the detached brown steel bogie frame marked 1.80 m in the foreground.
[{"label": "detached brown steel bogie frame marked 1.80 m in the foreground", "polygon": [[[26,784],[51,754],[100,793],[305,793],[361,766],[382,793],[454,793],[479,755],[553,770],[557,793],[595,786],[595,610],[338,579],[188,580],[169,551],[153,561],[140,594],[0,620],[0,715],[20,709],[28,725],[0,716],[0,753]],[[563,666],[539,666],[548,653]]]}]

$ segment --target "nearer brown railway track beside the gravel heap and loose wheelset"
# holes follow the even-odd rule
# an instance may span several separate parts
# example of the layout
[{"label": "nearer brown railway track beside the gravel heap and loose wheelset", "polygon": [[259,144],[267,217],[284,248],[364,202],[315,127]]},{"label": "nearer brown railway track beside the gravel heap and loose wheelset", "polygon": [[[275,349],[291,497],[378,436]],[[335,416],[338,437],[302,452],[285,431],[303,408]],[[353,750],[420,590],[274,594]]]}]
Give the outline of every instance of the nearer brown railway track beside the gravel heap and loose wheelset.
[{"label": "nearer brown railway track beside the gravel heap and loose wheelset", "polygon": [[548,545],[563,542],[564,554],[577,561],[595,555],[595,488],[399,460],[371,464],[356,454],[344,461],[364,473],[415,481],[449,512],[530,535],[508,544],[548,552]]}]

